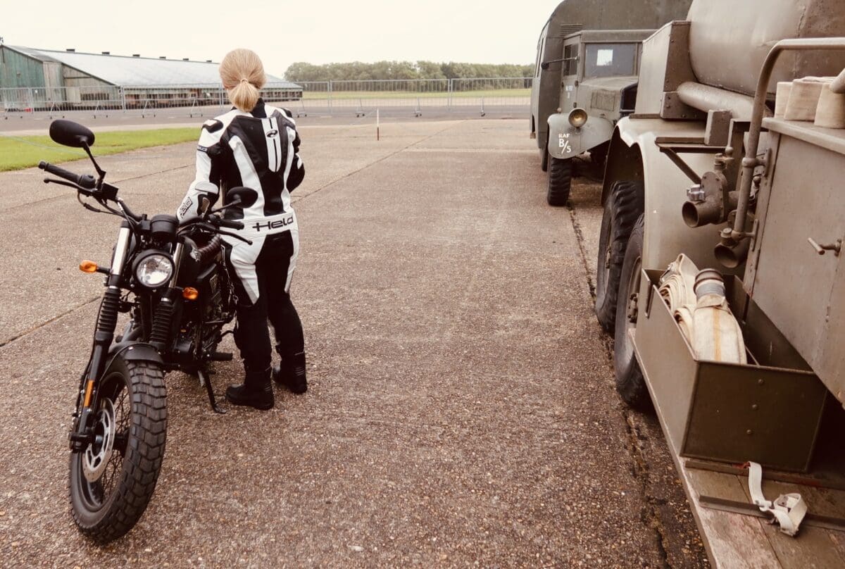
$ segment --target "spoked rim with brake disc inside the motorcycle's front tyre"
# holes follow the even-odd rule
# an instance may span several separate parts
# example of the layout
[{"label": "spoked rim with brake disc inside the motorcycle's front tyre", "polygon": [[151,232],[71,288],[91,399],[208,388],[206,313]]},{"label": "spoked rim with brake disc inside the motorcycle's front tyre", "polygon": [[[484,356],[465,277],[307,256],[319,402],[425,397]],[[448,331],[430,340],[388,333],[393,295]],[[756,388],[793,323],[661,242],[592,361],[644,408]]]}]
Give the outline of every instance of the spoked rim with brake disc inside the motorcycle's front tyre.
[{"label": "spoked rim with brake disc inside the motorcycle's front tyre", "polygon": [[77,467],[79,495],[89,512],[105,507],[120,483],[131,425],[132,407],[123,375],[108,375],[100,389],[95,440],[82,452]]}]

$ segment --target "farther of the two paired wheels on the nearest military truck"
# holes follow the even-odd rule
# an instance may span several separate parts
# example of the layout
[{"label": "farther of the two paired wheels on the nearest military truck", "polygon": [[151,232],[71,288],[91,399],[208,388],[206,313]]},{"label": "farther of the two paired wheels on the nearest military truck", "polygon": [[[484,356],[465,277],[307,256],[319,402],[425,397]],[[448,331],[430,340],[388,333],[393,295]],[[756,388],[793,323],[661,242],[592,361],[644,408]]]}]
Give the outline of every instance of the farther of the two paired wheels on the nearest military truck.
[{"label": "farther of the two paired wheels on the nearest military truck", "polygon": [[631,230],[643,212],[643,189],[642,182],[620,180],[613,183],[604,202],[602,230],[598,237],[596,316],[607,332],[613,331],[616,324],[619,275]]}]

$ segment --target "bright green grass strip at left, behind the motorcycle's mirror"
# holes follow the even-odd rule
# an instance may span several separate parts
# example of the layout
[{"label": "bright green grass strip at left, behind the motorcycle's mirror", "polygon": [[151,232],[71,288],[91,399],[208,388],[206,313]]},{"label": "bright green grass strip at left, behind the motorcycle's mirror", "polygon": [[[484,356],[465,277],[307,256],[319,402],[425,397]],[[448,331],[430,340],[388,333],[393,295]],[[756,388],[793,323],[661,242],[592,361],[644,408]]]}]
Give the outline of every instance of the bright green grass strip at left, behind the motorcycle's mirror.
[{"label": "bright green grass strip at left, behind the motorcycle's mirror", "polygon": [[[196,129],[156,129],[115,131],[96,134],[94,156],[106,156],[150,146],[175,145],[197,140]],[[38,165],[43,160],[52,164],[85,158],[85,151],[57,145],[49,136],[6,136],[0,133],[0,172]]]}]

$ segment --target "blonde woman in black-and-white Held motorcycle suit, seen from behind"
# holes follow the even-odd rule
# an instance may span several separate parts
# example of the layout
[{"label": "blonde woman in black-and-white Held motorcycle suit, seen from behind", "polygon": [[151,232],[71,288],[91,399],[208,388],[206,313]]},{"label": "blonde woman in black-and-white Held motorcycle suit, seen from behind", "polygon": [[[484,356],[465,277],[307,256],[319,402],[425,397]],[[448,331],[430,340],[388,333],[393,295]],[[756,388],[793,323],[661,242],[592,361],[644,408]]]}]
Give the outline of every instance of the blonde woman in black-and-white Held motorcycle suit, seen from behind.
[{"label": "blonde woman in black-and-white Held motorcycle suit, seen from behind", "polygon": [[[291,277],[299,251],[296,214],[290,192],[303,181],[299,135],[292,113],[265,105],[259,96],[264,66],[248,49],[223,57],[220,76],[234,107],[203,124],[197,147],[197,175],[177,211],[179,219],[195,216],[204,198],[211,204],[226,190],[239,190],[241,204],[226,218],[243,221],[237,233],[252,241],[224,237],[226,264],[237,296],[235,343],[246,372],[243,383],[229,386],[226,399],[257,409],[273,407],[270,376],[295,393],[308,388],[305,378],[303,326],[290,297]],[[267,320],[275,330],[281,365],[270,371]]]}]

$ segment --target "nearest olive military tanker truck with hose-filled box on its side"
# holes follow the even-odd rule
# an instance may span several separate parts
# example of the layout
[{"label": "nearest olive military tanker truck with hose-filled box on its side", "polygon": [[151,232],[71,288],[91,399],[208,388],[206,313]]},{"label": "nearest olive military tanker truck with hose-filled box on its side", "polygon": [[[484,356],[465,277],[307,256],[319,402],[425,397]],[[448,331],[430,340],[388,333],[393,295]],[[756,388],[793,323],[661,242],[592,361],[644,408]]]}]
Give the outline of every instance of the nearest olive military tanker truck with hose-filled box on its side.
[{"label": "nearest olive military tanker truck with hose-filled box on its side", "polygon": [[[845,566],[843,68],[841,3],[694,0],[643,42],[608,148],[596,314],[713,566]],[[726,339],[704,282],[736,359],[699,347]]]}]

